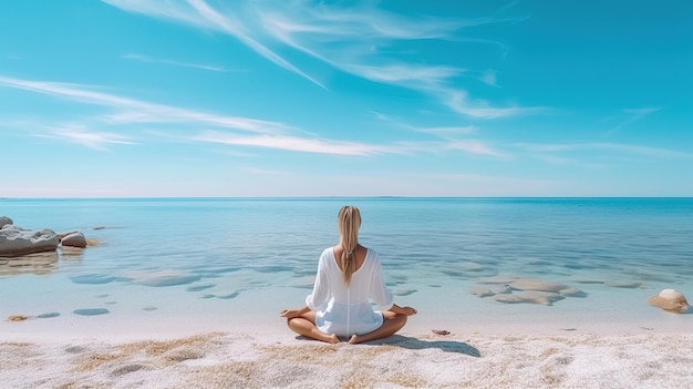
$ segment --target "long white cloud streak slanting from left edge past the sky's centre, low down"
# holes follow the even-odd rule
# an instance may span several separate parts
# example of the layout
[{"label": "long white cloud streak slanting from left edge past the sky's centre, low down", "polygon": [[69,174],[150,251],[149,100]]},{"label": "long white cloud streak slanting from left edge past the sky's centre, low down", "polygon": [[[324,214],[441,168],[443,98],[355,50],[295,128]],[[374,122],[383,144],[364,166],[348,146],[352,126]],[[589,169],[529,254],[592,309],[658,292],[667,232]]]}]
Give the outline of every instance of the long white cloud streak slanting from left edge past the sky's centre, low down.
[{"label": "long white cloud streak slanting from left edge past the sky's centre, low down", "polygon": [[[182,124],[187,129],[208,129],[203,132],[199,132],[198,130],[187,130],[186,134],[174,136],[178,141],[195,141],[303,153],[351,156],[463,151],[469,154],[501,158],[507,157],[506,153],[495,150],[483,141],[459,139],[459,135],[474,133],[476,131],[474,126],[415,127],[400,123],[399,125],[402,125],[410,131],[427,133],[444,141],[394,142],[390,144],[374,145],[359,142],[319,139],[310,134],[297,136],[292,133],[307,132],[280,122],[270,122],[240,116],[216,115],[177,106],[123,98],[115,94],[100,92],[93,86],[87,85],[29,81],[0,76],[0,86],[53,95],[55,98],[73,100],[83,104],[105,106],[114,112],[89,119],[90,122],[101,123],[105,126],[118,126],[136,123],[163,123]],[[385,115],[381,115],[381,119],[384,120],[385,117]],[[113,132],[89,130],[94,126],[99,125],[69,124],[59,129],[53,129],[53,131],[51,131],[48,135],[41,134],[40,136],[63,139],[96,150],[105,150],[110,144],[135,144],[128,137]],[[155,132],[152,132],[152,134],[155,134]]]}]

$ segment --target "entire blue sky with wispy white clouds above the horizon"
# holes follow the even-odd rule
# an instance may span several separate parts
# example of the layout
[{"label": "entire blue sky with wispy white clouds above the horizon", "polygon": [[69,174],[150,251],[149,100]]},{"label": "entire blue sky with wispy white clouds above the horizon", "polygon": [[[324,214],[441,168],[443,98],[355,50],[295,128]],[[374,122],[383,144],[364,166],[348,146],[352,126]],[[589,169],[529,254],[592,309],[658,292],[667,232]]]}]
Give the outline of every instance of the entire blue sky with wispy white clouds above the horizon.
[{"label": "entire blue sky with wispy white clouds above the horizon", "polygon": [[693,196],[693,2],[0,4],[0,197]]}]

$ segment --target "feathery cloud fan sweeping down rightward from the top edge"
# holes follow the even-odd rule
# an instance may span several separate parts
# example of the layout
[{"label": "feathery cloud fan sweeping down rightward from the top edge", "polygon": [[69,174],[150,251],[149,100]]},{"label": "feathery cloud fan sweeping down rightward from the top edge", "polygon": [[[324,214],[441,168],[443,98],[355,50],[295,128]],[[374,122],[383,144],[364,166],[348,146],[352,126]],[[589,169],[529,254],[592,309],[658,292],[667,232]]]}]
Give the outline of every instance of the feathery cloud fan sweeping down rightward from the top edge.
[{"label": "feathery cloud fan sweeping down rightward from the top edge", "polygon": [[[289,58],[303,53],[337,70],[376,82],[417,91],[465,116],[496,119],[544,112],[544,108],[496,106],[468,99],[455,80],[468,70],[458,63],[422,64],[422,53],[387,54],[403,41],[437,40],[462,43],[461,30],[490,23],[515,22],[518,18],[443,18],[397,14],[368,1],[316,3],[308,0],[232,1],[204,0],[159,2],[154,0],[103,0],[124,11],[167,19],[194,28],[234,37],[259,55],[321,88],[325,85]],[[504,11],[499,11],[503,13]],[[484,40],[469,39],[475,44]],[[493,43],[488,43],[493,42]],[[498,44],[488,41],[486,44]],[[425,50],[425,49],[420,49]],[[447,59],[448,60],[448,59]],[[475,71],[476,78],[497,86],[495,71]]]}]

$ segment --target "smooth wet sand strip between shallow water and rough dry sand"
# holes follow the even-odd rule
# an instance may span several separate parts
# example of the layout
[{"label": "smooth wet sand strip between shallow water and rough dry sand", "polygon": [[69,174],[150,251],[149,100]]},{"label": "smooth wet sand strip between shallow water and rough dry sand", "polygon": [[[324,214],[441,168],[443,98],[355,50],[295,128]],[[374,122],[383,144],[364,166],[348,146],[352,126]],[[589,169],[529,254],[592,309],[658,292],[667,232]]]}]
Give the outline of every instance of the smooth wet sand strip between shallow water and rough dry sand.
[{"label": "smooth wet sand strip between shallow water and rough dry sand", "polygon": [[[210,311],[133,311],[130,314],[107,314],[80,316],[73,313],[55,314],[55,317],[37,318],[30,316],[23,321],[10,321],[6,316],[0,321],[0,341],[31,341],[32,339],[75,339],[99,338],[104,340],[130,341],[153,338],[173,338],[201,332],[247,332],[269,334],[272,337],[291,337],[279,309],[263,313],[210,313]],[[19,313],[18,313],[19,314]],[[403,331],[417,335],[432,334],[433,329],[444,329],[452,334],[479,334],[503,336],[520,334],[527,336],[639,336],[648,334],[693,334],[691,319],[693,309],[684,314],[673,314],[652,308],[648,317],[619,317],[619,313],[607,316],[603,313],[545,311],[531,314],[484,316],[469,311],[465,317],[458,313],[420,313],[408,318]]]}]

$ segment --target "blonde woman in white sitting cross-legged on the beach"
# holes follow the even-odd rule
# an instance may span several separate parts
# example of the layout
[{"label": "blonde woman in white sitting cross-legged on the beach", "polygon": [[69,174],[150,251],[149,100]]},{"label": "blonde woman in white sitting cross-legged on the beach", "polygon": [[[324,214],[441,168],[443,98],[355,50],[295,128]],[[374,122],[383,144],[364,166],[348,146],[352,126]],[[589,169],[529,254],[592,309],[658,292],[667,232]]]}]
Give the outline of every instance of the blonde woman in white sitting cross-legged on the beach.
[{"label": "blonde woman in white sitting cross-legged on the beach", "polygon": [[[385,338],[406,324],[416,309],[393,304],[385,287],[377,253],[359,244],[361,214],[344,206],[338,215],[339,245],[320,255],[313,293],[301,309],[285,309],[281,316],[294,332],[337,344],[339,337],[350,344]],[[374,311],[370,300],[383,310]]]}]

